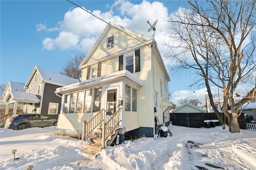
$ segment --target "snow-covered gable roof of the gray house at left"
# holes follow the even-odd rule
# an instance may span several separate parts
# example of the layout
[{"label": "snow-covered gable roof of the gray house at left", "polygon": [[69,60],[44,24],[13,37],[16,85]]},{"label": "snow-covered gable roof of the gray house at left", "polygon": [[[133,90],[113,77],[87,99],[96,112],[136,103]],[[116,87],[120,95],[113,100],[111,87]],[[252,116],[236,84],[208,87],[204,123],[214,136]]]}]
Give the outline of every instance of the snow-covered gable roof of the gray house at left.
[{"label": "snow-covered gable roof of the gray house at left", "polygon": [[25,87],[28,87],[36,71],[38,71],[38,75],[41,77],[42,81],[44,81],[45,83],[58,85],[58,86],[65,86],[65,85],[79,82],[77,79],[73,79],[66,75],[55,73],[53,71],[49,71],[47,69],[43,69],[35,65],[34,69],[32,70],[32,73],[28,77]]}]

